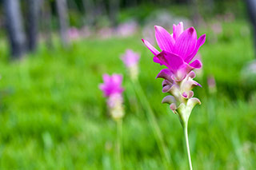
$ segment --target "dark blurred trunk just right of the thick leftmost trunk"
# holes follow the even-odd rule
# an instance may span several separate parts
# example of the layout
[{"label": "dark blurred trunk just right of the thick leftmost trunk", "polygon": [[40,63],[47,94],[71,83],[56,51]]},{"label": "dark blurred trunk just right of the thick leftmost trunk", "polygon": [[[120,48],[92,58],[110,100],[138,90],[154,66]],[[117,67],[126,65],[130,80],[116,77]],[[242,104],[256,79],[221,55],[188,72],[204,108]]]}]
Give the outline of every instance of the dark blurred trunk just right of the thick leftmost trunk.
[{"label": "dark blurred trunk just right of the thick leftmost trunk", "polygon": [[28,4],[27,11],[27,43],[29,51],[33,52],[38,47],[38,21],[41,6],[41,0],[26,0]]}]

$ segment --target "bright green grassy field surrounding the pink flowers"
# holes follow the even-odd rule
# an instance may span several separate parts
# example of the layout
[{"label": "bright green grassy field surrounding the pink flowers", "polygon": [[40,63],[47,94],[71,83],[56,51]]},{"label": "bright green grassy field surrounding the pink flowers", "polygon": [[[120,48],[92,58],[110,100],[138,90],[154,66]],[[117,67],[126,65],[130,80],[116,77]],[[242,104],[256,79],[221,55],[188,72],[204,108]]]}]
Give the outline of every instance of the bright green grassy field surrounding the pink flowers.
[{"label": "bright green grassy field surrounding the pink flowers", "polygon": [[[206,33],[200,49],[202,88],[195,96],[202,105],[190,116],[189,137],[194,169],[254,169],[256,167],[255,84],[241,76],[253,60],[246,22],[222,23],[218,42]],[[153,28],[152,28],[153,29]],[[125,169],[164,169],[146,109],[140,105],[119,59],[126,49],[141,53],[139,81],[157,117],[170,150],[171,169],[187,169],[182,126],[162,105],[163,66],[152,61],[142,36],[85,39],[70,49],[47,49],[22,61],[6,58],[0,48],[0,169],[115,169],[116,125],[98,89],[102,73],[123,73],[126,116],[123,120]],[[207,77],[217,81],[209,93]]]}]

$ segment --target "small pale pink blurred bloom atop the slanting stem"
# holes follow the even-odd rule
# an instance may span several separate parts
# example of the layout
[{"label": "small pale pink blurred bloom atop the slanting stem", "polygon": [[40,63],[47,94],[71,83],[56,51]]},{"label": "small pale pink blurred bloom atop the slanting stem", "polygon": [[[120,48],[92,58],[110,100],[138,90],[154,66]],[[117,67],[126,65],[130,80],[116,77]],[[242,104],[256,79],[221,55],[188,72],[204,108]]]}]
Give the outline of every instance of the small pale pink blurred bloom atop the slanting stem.
[{"label": "small pale pink blurred bloom atop the slanting stem", "polygon": [[124,53],[121,57],[123,63],[126,65],[127,68],[133,67],[134,65],[138,65],[138,60],[140,55],[135,53],[131,49],[127,49],[126,53]]}]

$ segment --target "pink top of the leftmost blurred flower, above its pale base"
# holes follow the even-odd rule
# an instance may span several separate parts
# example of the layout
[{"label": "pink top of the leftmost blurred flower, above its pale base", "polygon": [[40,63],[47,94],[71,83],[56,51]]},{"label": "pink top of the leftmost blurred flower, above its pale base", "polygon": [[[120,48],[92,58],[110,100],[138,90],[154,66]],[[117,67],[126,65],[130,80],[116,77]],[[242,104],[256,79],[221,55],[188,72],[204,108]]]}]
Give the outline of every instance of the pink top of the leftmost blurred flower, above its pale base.
[{"label": "pink top of the leftmost blurred flower, above its pale base", "polygon": [[112,76],[108,74],[103,74],[103,84],[99,85],[99,89],[102,90],[105,97],[110,97],[114,94],[122,94],[122,75],[113,74]]}]

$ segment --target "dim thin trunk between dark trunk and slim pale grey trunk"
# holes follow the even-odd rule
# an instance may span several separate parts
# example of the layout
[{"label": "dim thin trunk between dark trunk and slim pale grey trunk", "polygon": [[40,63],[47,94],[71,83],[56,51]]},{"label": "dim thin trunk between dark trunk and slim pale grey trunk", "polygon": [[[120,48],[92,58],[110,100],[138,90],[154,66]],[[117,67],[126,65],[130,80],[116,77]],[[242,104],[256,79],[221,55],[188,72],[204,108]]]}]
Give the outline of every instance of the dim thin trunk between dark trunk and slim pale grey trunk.
[{"label": "dim thin trunk between dark trunk and slim pale grey trunk", "polygon": [[48,0],[44,0],[42,5],[42,30],[44,32],[44,38],[46,41],[46,45],[48,48],[53,47],[52,42],[52,34],[51,34],[51,9],[50,2]]}]

